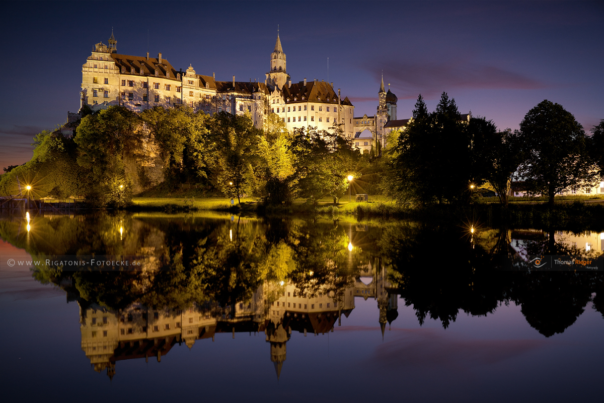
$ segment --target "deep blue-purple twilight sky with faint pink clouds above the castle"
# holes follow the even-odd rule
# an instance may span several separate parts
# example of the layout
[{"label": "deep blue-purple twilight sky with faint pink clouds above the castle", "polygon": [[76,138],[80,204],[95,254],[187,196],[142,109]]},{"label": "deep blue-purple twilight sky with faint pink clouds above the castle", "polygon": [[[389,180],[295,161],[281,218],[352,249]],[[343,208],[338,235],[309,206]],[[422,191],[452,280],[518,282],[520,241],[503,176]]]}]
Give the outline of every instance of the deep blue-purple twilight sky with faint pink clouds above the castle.
[{"label": "deep blue-purple twilight sky with faint pink clouds above the castle", "polygon": [[[217,80],[264,81],[280,25],[294,82],[328,81],[373,115],[380,74],[411,116],[417,95],[518,128],[544,99],[586,131],[604,118],[604,2],[3,2],[0,168],[79,108],[81,68],[114,28],[118,53],[158,52]],[[13,75],[11,75],[13,74]]]}]

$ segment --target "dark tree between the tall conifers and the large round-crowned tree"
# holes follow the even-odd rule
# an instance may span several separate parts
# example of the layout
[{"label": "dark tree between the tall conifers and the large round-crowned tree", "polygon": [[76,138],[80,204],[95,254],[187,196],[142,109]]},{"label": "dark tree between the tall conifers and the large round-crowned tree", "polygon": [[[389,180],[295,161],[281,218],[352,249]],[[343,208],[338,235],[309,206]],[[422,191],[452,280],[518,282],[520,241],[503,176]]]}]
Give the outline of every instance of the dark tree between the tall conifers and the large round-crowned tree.
[{"label": "dark tree between the tall conifers and the large round-crowned tree", "polygon": [[467,125],[472,140],[474,184],[488,181],[507,208],[512,176],[522,163],[522,142],[518,131],[498,132],[495,124],[485,118],[472,118]]}]

